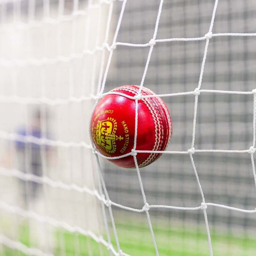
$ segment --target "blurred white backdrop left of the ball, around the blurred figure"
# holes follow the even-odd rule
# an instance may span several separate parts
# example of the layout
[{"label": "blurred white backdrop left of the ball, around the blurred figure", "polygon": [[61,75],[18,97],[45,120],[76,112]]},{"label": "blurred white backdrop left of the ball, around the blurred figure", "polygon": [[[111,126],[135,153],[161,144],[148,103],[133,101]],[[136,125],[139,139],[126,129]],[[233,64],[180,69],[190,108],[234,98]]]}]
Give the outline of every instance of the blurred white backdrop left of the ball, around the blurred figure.
[{"label": "blurred white backdrop left of the ball, around the blurred figure", "polygon": [[[92,191],[98,188],[97,165],[87,148],[94,100],[85,98],[97,92],[109,4],[90,3],[87,10],[87,1],[0,2],[0,200],[16,207],[8,210],[1,204],[0,233],[19,241],[20,228],[28,223],[30,247],[52,253],[56,228],[20,216],[19,209],[100,236],[99,201],[87,193],[48,184],[37,184],[36,195],[31,195],[31,182],[24,181],[23,189],[20,179],[8,171],[34,174],[31,157],[39,154],[39,176]],[[31,143],[26,143],[20,156],[14,134],[20,129],[33,131],[38,111],[39,138],[56,145],[42,142],[33,153]]]}]

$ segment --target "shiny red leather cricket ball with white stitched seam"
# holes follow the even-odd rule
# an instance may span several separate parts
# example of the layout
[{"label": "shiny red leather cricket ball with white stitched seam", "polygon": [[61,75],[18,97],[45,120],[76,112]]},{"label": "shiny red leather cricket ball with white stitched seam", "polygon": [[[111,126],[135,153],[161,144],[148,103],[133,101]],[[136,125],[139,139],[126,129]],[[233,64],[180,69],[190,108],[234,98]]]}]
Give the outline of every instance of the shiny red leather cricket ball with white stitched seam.
[{"label": "shiny red leather cricket ball with white stitched seam", "polygon": [[[139,86],[124,85],[111,92],[127,96],[138,94]],[[155,93],[143,87],[141,95]],[[103,96],[92,113],[90,136],[96,149],[104,156],[122,156],[131,153],[135,133],[135,100],[125,95],[107,94]],[[138,129],[136,150],[162,151],[167,147],[172,134],[172,120],[168,108],[159,97],[138,100]],[[139,167],[146,166],[161,154],[137,153]],[[133,156],[108,159],[112,163],[134,168]]]}]

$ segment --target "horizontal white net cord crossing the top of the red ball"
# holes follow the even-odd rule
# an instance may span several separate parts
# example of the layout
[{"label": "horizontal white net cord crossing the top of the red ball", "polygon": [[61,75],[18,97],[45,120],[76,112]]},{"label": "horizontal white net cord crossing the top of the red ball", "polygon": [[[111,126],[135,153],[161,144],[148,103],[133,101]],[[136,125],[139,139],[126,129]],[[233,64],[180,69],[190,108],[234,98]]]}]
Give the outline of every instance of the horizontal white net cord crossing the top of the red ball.
[{"label": "horizontal white net cord crossing the top of the red ball", "polygon": [[[191,95],[195,93],[201,93],[201,92],[208,92],[208,93],[224,93],[224,94],[254,94],[254,90],[252,91],[222,91],[222,90],[195,90],[195,91],[190,91],[190,92],[175,92],[175,93],[166,93],[166,94],[152,94],[152,95],[141,95],[141,99],[146,99],[146,98],[154,98],[154,97],[170,97],[170,96],[182,96],[182,95]],[[42,98],[34,98],[34,97],[20,97],[20,96],[0,96],[0,102],[1,103],[17,103],[17,104],[46,104],[50,106],[56,106],[56,105],[64,105],[64,104],[69,104],[69,103],[82,103],[84,101],[89,101],[89,100],[96,100],[98,97],[102,98],[105,95],[109,94],[116,94],[116,95],[121,95],[129,99],[134,99],[135,96],[130,96],[121,92],[106,92],[103,93],[101,96],[97,95],[90,95],[90,96],[83,96],[83,97],[69,97],[65,99],[51,99],[47,97],[42,97]]]}]

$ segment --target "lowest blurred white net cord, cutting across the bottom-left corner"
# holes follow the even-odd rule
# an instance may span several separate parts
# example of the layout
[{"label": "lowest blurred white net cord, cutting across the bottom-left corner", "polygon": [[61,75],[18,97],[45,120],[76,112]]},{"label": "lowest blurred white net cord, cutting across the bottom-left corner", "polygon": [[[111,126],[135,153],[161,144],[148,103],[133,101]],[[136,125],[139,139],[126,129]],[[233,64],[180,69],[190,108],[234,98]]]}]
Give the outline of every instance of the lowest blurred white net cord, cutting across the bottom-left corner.
[{"label": "lowest blurred white net cord, cutting across the bottom-left corner", "polygon": [[22,244],[19,241],[12,240],[9,237],[4,236],[2,234],[0,235],[0,244],[3,244],[9,247],[10,249],[18,250],[30,256],[54,256],[52,253],[46,253],[37,248],[28,247],[25,244]]}]

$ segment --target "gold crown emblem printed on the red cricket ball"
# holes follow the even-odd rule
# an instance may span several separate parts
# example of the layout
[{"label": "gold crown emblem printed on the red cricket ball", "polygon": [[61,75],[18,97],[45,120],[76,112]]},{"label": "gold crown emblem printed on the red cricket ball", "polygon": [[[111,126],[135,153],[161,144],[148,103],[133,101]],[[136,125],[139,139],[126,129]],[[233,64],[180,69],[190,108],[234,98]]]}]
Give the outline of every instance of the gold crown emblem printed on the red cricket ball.
[{"label": "gold crown emblem printed on the red cricket ball", "polygon": [[97,144],[105,148],[109,153],[116,152],[116,140],[123,140],[124,137],[116,135],[117,124],[114,118],[98,121],[96,128]]}]

